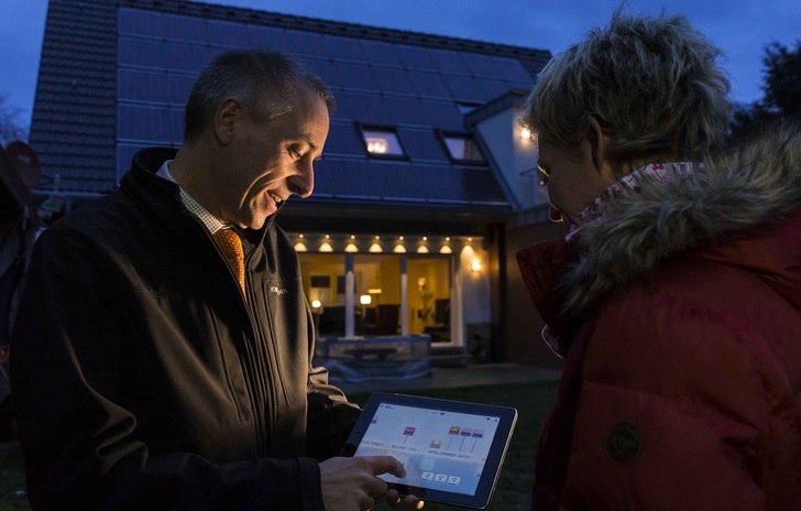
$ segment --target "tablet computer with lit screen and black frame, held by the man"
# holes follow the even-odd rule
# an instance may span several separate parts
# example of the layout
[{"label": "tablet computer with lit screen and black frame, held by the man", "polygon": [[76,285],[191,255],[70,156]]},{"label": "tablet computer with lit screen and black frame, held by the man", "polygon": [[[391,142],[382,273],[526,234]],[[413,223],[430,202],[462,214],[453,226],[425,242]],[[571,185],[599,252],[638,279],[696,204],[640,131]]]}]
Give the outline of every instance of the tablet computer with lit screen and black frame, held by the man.
[{"label": "tablet computer with lit screen and black frame, held by the man", "polygon": [[378,477],[401,494],[484,509],[516,422],[513,407],[374,392],[342,456],[394,456],[406,477]]}]

